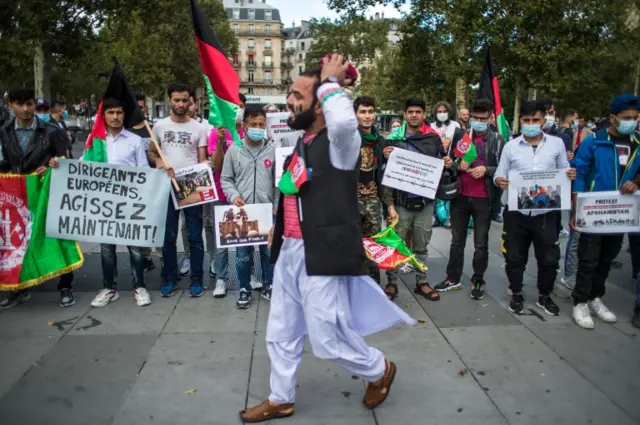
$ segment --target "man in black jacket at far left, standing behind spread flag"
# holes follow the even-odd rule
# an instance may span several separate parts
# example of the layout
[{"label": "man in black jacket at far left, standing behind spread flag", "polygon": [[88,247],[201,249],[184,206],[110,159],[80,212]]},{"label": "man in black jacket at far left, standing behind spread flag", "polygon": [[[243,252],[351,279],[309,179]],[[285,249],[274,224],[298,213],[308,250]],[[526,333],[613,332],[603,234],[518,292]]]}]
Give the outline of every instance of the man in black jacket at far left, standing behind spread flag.
[{"label": "man in black jacket at far left, standing behind spread flag", "polygon": [[[16,117],[0,128],[0,173],[42,174],[52,158],[66,155],[67,135],[54,124],[36,117],[36,100],[33,90],[16,89],[9,92],[9,104]],[[58,290],[60,305],[75,304],[71,283],[73,274],[62,275]],[[0,302],[0,310],[14,307],[31,299],[27,290],[11,292]]]}]

